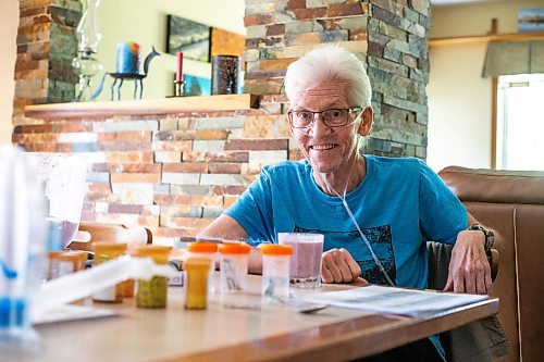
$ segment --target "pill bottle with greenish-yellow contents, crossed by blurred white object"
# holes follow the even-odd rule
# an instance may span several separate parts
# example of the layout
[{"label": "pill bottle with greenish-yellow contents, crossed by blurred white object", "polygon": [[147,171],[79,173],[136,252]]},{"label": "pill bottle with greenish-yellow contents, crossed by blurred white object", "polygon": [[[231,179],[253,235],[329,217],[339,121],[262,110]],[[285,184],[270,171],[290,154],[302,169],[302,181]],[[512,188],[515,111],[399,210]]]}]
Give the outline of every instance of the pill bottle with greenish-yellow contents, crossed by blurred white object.
[{"label": "pill bottle with greenish-yellow contents, crossed by blurred white object", "polygon": [[[137,258],[151,258],[157,264],[168,264],[172,247],[158,245],[143,245],[137,247],[133,255]],[[136,291],[136,307],[138,308],[165,308],[168,295],[168,278],[153,276],[150,280],[138,280]]]}]

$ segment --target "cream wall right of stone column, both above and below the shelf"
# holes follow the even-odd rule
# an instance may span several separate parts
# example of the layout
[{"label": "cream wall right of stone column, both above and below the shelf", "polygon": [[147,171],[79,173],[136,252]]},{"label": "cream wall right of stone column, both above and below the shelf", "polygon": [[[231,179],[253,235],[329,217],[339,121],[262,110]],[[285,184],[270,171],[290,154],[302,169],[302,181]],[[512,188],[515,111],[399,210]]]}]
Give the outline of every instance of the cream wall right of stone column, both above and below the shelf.
[{"label": "cream wall right of stone column, both above and below the shelf", "polygon": [[[432,10],[431,38],[485,35],[491,20],[498,33],[516,33],[519,9],[543,1],[437,7]],[[482,78],[486,43],[432,47],[429,96],[428,164],[491,167],[492,85]]]}]

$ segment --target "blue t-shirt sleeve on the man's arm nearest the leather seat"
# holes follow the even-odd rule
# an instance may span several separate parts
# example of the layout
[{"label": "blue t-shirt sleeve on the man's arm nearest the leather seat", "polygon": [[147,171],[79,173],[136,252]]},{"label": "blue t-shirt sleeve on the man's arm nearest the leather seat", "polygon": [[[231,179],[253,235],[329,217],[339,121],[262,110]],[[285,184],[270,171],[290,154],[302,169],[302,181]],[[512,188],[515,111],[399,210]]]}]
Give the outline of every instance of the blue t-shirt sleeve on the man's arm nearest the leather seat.
[{"label": "blue t-shirt sleeve on the man's arm nearest the leather seat", "polygon": [[426,164],[420,162],[419,222],[426,241],[455,244],[468,227],[467,209]]}]

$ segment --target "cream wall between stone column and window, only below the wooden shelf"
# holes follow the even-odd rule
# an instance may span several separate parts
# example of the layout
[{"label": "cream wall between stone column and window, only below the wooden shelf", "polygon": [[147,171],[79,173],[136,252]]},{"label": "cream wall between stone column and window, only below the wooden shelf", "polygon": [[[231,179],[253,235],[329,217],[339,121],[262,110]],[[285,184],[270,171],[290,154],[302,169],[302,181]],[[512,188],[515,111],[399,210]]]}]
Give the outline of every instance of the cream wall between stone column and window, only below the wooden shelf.
[{"label": "cream wall between stone column and window, only below the wooden shelf", "polygon": [[481,45],[431,51],[428,164],[489,167],[491,150],[491,83],[481,77]]}]

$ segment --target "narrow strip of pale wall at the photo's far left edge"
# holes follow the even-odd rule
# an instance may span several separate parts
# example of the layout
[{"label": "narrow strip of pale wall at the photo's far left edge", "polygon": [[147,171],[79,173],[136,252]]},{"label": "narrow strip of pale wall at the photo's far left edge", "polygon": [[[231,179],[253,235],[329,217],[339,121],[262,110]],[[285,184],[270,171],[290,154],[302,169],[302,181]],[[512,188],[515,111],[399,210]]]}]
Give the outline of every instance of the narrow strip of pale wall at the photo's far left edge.
[{"label": "narrow strip of pale wall at the photo's far left edge", "polygon": [[0,145],[11,142],[18,1],[0,2]]}]

